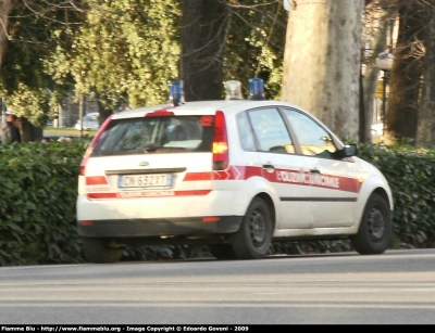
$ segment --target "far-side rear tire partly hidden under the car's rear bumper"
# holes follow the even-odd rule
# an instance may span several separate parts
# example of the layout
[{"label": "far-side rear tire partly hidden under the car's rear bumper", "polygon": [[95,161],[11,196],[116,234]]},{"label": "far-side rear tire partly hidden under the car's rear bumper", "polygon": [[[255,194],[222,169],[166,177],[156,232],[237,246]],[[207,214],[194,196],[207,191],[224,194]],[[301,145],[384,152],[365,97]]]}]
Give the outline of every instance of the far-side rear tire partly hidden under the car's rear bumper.
[{"label": "far-side rear tire partly hidden under the car's rear bumper", "polygon": [[123,247],[109,247],[104,239],[84,238],[83,249],[89,262],[112,264],[121,259]]}]

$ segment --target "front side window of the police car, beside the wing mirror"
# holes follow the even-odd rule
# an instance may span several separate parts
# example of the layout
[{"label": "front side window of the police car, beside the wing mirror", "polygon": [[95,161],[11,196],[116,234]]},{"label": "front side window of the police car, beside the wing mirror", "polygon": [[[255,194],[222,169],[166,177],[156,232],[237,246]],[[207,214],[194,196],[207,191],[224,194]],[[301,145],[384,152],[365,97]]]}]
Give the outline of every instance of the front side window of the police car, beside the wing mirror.
[{"label": "front side window of the police car, beside the wing mirror", "polygon": [[330,133],[310,117],[296,110],[285,110],[303,155],[336,158],[337,149]]}]

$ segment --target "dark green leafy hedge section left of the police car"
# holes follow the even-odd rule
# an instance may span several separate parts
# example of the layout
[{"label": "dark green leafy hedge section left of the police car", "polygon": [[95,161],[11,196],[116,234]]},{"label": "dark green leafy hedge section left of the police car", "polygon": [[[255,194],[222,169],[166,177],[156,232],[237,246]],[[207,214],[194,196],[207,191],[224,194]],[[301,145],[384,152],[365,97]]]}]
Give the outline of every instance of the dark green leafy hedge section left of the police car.
[{"label": "dark green leafy hedge section left of the police car", "polygon": [[0,145],[0,266],[83,261],[75,202],[88,143]]}]

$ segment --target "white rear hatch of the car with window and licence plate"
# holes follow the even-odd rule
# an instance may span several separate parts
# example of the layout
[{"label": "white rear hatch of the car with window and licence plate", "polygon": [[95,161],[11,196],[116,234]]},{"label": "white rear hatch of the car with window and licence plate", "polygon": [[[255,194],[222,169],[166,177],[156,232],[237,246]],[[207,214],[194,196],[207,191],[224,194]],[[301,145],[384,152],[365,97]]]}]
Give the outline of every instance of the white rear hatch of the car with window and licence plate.
[{"label": "white rear hatch of the car with window and licence plate", "polygon": [[154,112],[111,119],[84,158],[79,192],[89,200],[208,194],[214,117]]}]

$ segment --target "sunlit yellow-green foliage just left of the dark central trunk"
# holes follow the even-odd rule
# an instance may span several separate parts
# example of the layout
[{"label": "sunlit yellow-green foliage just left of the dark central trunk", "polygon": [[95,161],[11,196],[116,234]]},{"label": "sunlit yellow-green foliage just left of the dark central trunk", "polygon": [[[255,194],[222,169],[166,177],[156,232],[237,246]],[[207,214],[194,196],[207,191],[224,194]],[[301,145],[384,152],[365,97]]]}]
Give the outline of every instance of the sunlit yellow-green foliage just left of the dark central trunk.
[{"label": "sunlit yellow-green foliage just left of the dark central trunk", "polygon": [[54,34],[58,48],[46,60],[59,82],[75,81],[78,98],[96,93],[107,108],[161,104],[178,76],[181,10],[177,0],[84,1],[78,30]]}]

